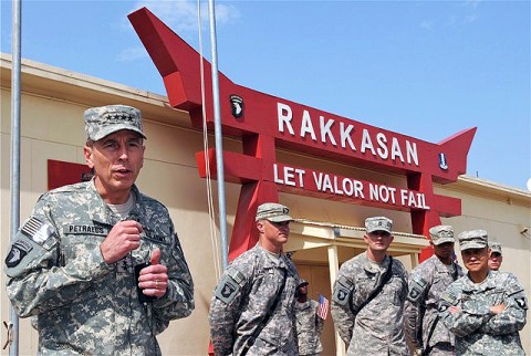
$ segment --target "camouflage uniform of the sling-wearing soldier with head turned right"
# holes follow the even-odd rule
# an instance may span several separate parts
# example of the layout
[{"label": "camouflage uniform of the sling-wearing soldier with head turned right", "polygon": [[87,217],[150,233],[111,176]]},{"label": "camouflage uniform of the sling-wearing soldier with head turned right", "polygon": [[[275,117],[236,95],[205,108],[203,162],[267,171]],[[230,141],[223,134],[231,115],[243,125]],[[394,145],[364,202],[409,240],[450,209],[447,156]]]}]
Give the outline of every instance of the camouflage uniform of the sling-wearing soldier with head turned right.
[{"label": "camouflage uniform of the sling-wearing soldier with head turned right", "polygon": [[248,355],[299,355],[294,334],[299,274],[284,254],[277,263],[258,244],[229,264],[214,292],[209,320],[216,355],[242,355],[284,276],[280,301]]}]

